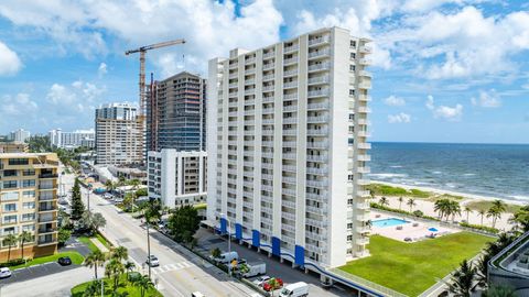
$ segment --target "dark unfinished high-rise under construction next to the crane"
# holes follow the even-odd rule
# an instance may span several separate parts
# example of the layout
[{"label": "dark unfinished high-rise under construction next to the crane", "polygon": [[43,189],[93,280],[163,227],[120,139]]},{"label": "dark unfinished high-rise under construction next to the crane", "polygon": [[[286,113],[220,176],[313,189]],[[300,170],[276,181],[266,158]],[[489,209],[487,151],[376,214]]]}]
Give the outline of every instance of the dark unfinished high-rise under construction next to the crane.
[{"label": "dark unfinished high-rise under construction next to the crane", "polygon": [[183,72],[151,82],[147,98],[148,151],[205,151],[205,79]]}]

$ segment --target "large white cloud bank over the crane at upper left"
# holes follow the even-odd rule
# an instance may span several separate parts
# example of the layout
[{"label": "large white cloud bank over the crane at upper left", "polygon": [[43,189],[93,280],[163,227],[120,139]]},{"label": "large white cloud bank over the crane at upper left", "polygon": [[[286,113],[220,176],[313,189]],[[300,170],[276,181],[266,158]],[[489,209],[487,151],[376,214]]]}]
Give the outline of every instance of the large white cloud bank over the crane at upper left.
[{"label": "large white cloud bank over the crane at upper left", "polygon": [[231,1],[210,0],[56,0],[31,4],[6,0],[0,3],[0,15],[47,34],[60,46],[75,48],[87,57],[108,52],[104,36],[117,37],[112,48],[122,50],[185,38],[185,45],[150,52],[148,59],[162,65],[168,54],[185,53],[185,68],[204,73],[209,58],[227,56],[231,48],[252,50],[278,42],[283,22],[272,0],[249,2],[237,18]]}]

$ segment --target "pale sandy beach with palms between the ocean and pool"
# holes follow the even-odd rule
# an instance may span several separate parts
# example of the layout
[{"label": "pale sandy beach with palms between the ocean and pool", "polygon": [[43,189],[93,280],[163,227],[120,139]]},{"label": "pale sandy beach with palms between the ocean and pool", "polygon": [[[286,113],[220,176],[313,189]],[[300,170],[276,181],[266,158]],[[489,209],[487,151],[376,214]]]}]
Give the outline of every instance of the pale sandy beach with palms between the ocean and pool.
[{"label": "pale sandy beach with palms between the ocean and pool", "polygon": [[[462,213],[461,213],[461,216],[455,217],[455,221],[462,221],[462,220],[467,220],[468,219],[468,223],[472,223],[472,224],[482,224],[482,217],[479,216],[479,213],[477,211],[469,212],[468,217],[467,217],[467,213],[464,211],[465,205],[467,205],[469,202],[473,202],[473,201],[490,201],[490,200],[496,200],[497,199],[497,198],[494,198],[494,197],[485,197],[485,196],[479,196],[479,195],[456,193],[456,191],[450,191],[450,190],[441,190],[441,189],[434,189],[434,188],[429,188],[429,187],[399,185],[399,184],[375,182],[375,180],[373,180],[373,183],[374,184],[388,185],[388,186],[392,186],[392,187],[400,187],[400,188],[404,188],[404,189],[408,189],[408,190],[409,189],[419,189],[419,190],[423,190],[423,191],[433,193],[433,194],[436,194],[436,195],[446,194],[446,195],[453,195],[453,196],[461,196],[461,197],[463,197],[463,199],[460,200],[460,205],[461,205],[461,208],[462,208]],[[377,195],[375,197],[376,198],[375,198],[374,202],[378,202],[379,199],[381,198],[381,195],[380,196]],[[414,197],[409,197],[409,196],[402,196],[402,198],[404,198],[404,201],[402,202],[402,205],[400,205],[400,202],[398,201],[398,198],[400,196],[385,196],[385,197],[388,199],[390,208],[395,208],[395,209],[400,208],[400,209],[407,210],[407,211],[410,210],[410,207],[407,205],[408,199],[409,198],[414,198]],[[421,210],[427,216],[438,217],[438,213],[434,211],[434,202],[433,201],[428,200],[428,199],[421,199],[421,198],[414,198],[414,201],[415,201],[415,206],[413,207],[413,211],[414,210]],[[516,204],[516,201],[506,201],[506,200],[504,200],[504,201],[508,205],[518,205],[518,206],[523,205],[521,202]],[[374,210],[374,211],[376,211],[376,210]],[[495,227],[497,229],[504,230],[504,231],[510,230],[512,228],[512,226],[508,221],[511,217],[512,217],[512,213],[509,213],[509,212],[503,213],[501,218],[499,218],[496,221]],[[487,226],[487,227],[493,227],[493,220],[490,218],[487,218],[486,216],[484,216],[483,224]]]}]

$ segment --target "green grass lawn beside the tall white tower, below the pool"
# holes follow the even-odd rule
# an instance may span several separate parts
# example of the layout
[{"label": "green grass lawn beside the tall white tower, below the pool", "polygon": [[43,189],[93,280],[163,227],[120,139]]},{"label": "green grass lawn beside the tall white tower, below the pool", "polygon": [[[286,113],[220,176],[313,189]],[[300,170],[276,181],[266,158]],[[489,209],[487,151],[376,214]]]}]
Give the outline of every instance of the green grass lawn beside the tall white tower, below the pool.
[{"label": "green grass lawn beside the tall white tower, below the pool", "polygon": [[458,232],[433,240],[404,243],[373,235],[371,256],[349,262],[339,270],[395,289],[418,296],[436,278],[454,271],[461,261],[472,258],[493,239],[469,232]]}]

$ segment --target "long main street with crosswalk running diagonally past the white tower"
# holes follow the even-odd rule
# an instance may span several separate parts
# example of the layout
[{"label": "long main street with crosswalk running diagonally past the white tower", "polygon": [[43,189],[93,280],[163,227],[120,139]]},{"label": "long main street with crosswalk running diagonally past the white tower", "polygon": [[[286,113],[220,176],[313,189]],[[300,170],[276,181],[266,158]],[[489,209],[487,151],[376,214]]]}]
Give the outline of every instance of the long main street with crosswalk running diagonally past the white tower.
[{"label": "long main street with crosswalk running diagonally past the white tower", "polygon": [[[62,178],[66,190],[73,186],[74,176],[65,175]],[[87,204],[87,191],[82,188],[83,199]],[[139,267],[147,260],[147,232],[138,220],[128,213],[120,212],[114,205],[104,198],[90,194],[90,210],[100,212],[107,220],[101,232],[114,243],[126,246],[129,255]],[[169,240],[158,231],[152,232],[151,254],[160,260],[160,267],[152,268],[152,278],[164,296],[187,297],[193,292],[201,292],[206,296],[252,296],[256,294],[247,286],[229,278],[224,272],[193,253]]]}]

